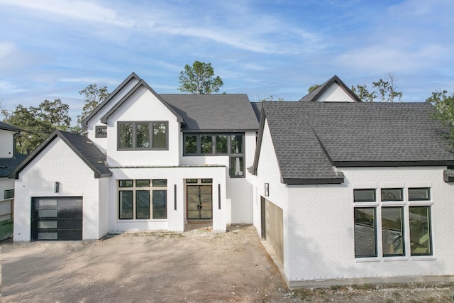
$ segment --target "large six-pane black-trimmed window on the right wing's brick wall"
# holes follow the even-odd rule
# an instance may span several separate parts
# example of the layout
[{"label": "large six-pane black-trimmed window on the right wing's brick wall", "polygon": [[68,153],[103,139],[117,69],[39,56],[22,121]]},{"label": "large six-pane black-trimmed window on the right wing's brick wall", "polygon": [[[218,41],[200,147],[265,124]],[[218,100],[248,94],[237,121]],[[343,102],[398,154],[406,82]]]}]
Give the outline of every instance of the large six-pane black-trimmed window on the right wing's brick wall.
[{"label": "large six-pane black-trimmed window on the right wing's brick wall", "polygon": [[[381,202],[375,202],[375,189],[354,189],[354,233],[355,258],[398,257],[408,254],[405,243],[410,243],[410,255],[433,255],[431,236],[431,206],[409,204],[431,199],[429,187],[409,188],[408,198],[403,197],[402,188],[380,189]],[[358,203],[359,202],[359,203]],[[384,203],[383,203],[384,202]],[[396,203],[389,203],[396,202]],[[395,205],[393,205],[395,204]],[[363,206],[366,205],[366,206]],[[408,205],[408,208],[407,206]],[[405,211],[408,211],[406,216]],[[381,220],[382,250],[377,252],[377,218]],[[409,231],[404,231],[405,218],[409,220]]]}]

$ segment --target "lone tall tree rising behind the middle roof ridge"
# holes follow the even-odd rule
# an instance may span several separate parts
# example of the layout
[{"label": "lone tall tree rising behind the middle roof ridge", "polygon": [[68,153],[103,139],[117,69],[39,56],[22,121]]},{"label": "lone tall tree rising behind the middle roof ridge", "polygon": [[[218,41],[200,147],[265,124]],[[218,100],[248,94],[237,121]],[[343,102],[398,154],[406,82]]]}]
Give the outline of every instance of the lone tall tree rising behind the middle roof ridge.
[{"label": "lone tall tree rising behind the middle roof ridge", "polygon": [[214,76],[211,63],[196,61],[194,64],[185,65],[184,70],[179,74],[178,87],[180,92],[189,92],[191,94],[212,94],[219,92],[223,82],[219,76]]}]

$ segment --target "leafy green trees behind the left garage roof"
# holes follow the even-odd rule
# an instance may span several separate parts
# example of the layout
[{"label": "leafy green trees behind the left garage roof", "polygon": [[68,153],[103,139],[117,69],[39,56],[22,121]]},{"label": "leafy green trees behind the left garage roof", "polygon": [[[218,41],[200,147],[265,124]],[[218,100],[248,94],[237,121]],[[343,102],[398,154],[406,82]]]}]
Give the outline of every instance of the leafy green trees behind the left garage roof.
[{"label": "leafy green trees behind the left garage roof", "polygon": [[68,110],[69,106],[60,99],[44,100],[38,107],[16,106],[4,119],[6,123],[22,130],[21,136],[16,140],[16,150],[19,153],[30,153],[55,129],[68,131],[71,123]]}]

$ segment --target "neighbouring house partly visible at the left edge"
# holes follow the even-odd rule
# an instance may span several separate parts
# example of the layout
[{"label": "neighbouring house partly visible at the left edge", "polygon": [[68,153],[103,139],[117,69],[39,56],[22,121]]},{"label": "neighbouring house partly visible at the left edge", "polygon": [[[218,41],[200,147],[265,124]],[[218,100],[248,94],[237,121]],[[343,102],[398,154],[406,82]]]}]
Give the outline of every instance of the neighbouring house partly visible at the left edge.
[{"label": "neighbouring house partly visible at the left edge", "polygon": [[0,122],[0,240],[13,233],[14,180],[11,171],[25,158],[15,153],[15,136],[19,128]]}]

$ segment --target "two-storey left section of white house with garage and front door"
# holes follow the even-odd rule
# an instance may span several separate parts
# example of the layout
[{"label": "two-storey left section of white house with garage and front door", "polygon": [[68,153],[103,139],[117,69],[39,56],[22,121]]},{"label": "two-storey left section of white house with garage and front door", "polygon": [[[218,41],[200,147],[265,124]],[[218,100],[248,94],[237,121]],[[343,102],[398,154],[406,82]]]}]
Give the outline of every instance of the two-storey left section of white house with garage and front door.
[{"label": "two-storey left section of white house with garage and front door", "polygon": [[258,119],[245,94],[157,94],[133,73],[82,125],[87,137],[55,131],[11,173],[14,241],[253,222]]}]

